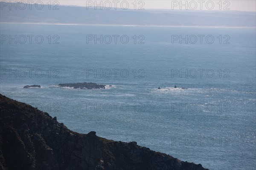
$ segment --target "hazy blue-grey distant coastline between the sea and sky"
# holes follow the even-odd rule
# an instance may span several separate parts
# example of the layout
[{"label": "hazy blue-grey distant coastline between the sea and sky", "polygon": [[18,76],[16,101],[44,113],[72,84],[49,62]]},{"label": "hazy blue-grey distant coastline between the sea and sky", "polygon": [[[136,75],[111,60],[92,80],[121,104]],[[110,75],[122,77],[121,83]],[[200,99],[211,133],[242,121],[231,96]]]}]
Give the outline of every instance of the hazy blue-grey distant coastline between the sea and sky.
[{"label": "hazy blue-grey distant coastline between the sea and sky", "polygon": [[[11,6],[7,3],[3,6]],[[60,9],[61,10],[58,10]],[[241,11],[181,10],[96,10],[79,6],[58,9],[26,8],[1,10],[2,23],[38,23],[94,26],[159,26],[202,28],[255,28],[256,13]]]}]

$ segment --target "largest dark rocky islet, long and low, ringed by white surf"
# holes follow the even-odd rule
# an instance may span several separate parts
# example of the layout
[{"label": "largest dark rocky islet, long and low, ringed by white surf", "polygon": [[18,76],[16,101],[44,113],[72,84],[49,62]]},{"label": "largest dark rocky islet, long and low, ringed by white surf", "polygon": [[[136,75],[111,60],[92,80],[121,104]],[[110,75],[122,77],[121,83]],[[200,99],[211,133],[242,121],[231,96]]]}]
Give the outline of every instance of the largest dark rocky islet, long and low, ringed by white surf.
[{"label": "largest dark rocky islet, long and low, ringed by white surf", "polygon": [[58,84],[61,87],[73,87],[74,89],[105,89],[105,85],[98,85],[96,83],[67,83]]}]

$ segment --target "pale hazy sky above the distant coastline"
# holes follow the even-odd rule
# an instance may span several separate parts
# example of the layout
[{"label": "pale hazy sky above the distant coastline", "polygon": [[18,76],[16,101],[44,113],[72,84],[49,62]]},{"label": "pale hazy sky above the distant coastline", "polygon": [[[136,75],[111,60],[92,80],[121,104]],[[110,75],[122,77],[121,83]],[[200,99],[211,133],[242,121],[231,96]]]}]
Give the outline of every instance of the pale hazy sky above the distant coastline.
[{"label": "pale hazy sky above the distant coastline", "polygon": [[[3,1],[3,0],[1,0]],[[9,2],[10,0],[6,0]],[[11,0],[13,1],[13,0]],[[20,1],[20,0],[15,0]],[[29,0],[23,0],[27,2]],[[33,0],[34,2],[49,0]],[[237,10],[256,11],[256,0],[56,0],[60,5],[92,6],[99,9],[129,8],[129,9],[190,9],[190,10]],[[51,2],[54,2],[52,0]]]}]

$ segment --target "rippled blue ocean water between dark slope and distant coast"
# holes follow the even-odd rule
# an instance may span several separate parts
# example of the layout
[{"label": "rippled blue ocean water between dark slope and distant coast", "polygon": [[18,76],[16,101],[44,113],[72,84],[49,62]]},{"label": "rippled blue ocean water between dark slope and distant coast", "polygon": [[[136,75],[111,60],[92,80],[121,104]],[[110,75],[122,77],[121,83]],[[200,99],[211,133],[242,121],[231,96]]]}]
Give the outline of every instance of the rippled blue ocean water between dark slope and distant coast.
[{"label": "rippled blue ocean water between dark slope and distant coast", "polygon": [[[210,170],[255,170],[255,28],[1,23],[0,32],[1,94],[79,133],[137,141]],[[57,86],[78,82],[107,88]],[[41,88],[23,89],[32,84]]]}]

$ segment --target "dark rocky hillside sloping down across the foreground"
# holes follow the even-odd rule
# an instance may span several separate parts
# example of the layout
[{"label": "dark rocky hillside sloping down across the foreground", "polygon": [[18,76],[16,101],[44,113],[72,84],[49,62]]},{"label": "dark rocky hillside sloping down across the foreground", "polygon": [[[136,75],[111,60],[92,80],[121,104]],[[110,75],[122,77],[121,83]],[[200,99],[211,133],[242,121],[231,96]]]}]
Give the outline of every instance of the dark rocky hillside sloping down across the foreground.
[{"label": "dark rocky hillside sloping down across the foreground", "polygon": [[1,170],[207,170],[136,142],[79,134],[46,112],[0,95]]}]

